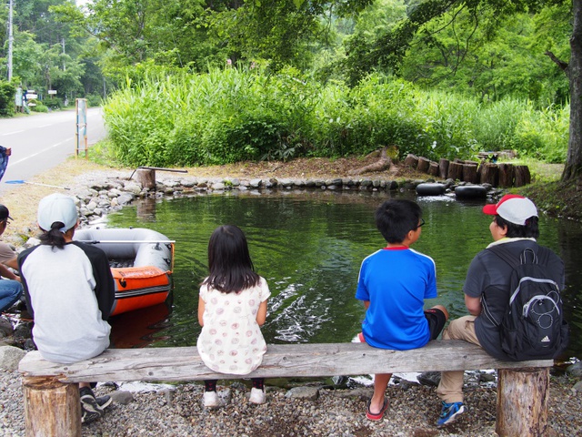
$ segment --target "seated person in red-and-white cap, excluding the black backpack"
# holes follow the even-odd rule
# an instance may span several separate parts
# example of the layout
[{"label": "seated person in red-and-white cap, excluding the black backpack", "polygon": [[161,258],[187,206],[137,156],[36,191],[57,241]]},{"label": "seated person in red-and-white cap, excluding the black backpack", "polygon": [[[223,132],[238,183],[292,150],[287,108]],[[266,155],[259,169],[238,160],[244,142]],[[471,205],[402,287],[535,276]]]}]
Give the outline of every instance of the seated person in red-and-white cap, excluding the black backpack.
[{"label": "seated person in red-and-white cap, excluding the black backpack", "polygon": [[[497,359],[510,361],[511,358],[502,350],[496,320],[503,320],[509,305],[513,267],[494,250],[503,245],[503,249],[517,259],[526,249],[531,249],[537,256],[540,249],[536,242],[539,237],[537,208],[528,198],[507,194],[497,204],[483,207],[483,212],[494,216],[489,225],[494,241],[477,253],[467,271],[463,291],[471,315],[452,320],[443,331],[443,340],[467,340]],[[547,251],[547,271],[552,275],[548,279],[554,280],[559,290],[564,290],[564,263],[554,252]],[[443,371],[437,394],[443,404],[437,425],[455,422],[465,412],[463,371]]]}]

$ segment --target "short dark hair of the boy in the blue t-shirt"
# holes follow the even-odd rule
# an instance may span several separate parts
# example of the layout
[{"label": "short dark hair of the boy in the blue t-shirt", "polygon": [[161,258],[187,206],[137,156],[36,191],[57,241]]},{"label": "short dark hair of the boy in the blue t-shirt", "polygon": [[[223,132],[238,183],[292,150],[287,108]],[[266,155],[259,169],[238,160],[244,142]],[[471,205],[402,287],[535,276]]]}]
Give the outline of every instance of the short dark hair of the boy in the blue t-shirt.
[{"label": "short dark hair of the boy in the blue t-shirt", "polygon": [[418,228],[422,210],[412,200],[393,198],[376,209],[376,228],[388,243],[401,243],[406,234]]}]

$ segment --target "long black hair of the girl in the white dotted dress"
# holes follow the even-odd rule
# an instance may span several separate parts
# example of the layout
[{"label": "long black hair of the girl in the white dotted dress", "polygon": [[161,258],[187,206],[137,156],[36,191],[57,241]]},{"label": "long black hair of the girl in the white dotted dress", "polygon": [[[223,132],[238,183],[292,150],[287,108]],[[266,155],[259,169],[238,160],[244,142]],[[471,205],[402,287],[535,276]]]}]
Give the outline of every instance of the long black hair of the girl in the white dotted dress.
[{"label": "long black hair of the girl in the white dotted dress", "polygon": [[256,286],[259,276],[248,252],[245,234],[234,225],[215,229],[208,241],[209,275],[203,282],[223,293]]}]

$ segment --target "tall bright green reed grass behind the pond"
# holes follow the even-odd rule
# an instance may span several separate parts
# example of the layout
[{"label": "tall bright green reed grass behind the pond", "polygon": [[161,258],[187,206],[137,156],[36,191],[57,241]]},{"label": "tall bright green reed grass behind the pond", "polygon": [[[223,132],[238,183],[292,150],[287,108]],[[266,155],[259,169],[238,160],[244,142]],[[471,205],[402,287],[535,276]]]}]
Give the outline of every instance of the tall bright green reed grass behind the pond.
[{"label": "tall bright green reed grass behind the pond", "polygon": [[568,107],[483,104],[371,75],[325,86],[294,69],[151,71],[105,102],[111,153],[126,165],[193,166],[241,160],[363,155],[471,158],[479,149],[563,162]]}]

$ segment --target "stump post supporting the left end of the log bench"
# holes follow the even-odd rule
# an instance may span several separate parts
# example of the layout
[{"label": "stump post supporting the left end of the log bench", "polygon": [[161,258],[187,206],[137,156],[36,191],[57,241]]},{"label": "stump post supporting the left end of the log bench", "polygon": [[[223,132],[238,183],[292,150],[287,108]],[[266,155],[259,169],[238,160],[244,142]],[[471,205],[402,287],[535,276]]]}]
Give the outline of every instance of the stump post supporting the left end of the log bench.
[{"label": "stump post supporting the left end of the log bench", "polygon": [[77,384],[55,378],[25,377],[26,437],[80,436],[81,402]]}]

